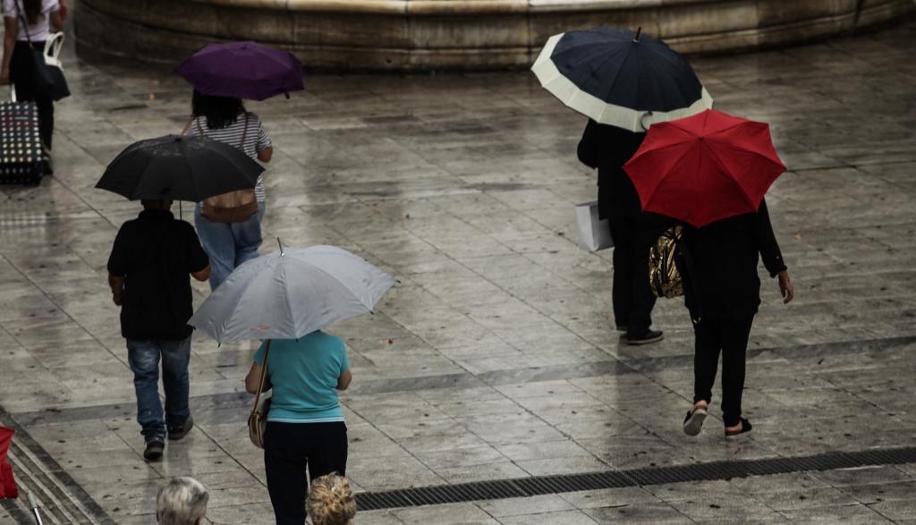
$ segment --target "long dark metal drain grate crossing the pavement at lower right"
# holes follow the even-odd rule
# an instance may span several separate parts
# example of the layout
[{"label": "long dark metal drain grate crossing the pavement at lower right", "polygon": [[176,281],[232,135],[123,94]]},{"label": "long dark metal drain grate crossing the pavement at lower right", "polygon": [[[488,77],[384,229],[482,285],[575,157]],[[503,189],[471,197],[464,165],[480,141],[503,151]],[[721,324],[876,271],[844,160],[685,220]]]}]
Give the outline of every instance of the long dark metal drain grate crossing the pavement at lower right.
[{"label": "long dark metal drain grate crossing the pavement at lower right", "polygon": [[775,457],[741,461],[719,461],[694,465],[611,470],[562,476],[533,476],[518,479],[480,481],[459,485],[402,488],[356,495],[360,510],[397,509],[442,505],[484,499],[527,498],[543,494],[638,487],[689,481],[714,481],[733,477],[770,476],[812,470],[835,470],[868,465],[916,463],[916,447],[828,453],[797,457]]}]

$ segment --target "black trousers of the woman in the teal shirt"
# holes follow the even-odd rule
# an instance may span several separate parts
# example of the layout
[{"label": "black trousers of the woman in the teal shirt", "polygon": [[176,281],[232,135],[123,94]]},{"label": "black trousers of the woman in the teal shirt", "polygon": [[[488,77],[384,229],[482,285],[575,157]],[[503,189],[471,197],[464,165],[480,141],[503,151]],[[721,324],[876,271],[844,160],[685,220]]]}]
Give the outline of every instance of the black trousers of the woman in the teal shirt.
[{"label": "black trousers of the woman in the teal shirt", "polygon": [[346,475],[347,438],[343,421],[280,423],[267,421],[264,468],[267,492],[278,525],[305,523],[309,478],[336,472]]}]

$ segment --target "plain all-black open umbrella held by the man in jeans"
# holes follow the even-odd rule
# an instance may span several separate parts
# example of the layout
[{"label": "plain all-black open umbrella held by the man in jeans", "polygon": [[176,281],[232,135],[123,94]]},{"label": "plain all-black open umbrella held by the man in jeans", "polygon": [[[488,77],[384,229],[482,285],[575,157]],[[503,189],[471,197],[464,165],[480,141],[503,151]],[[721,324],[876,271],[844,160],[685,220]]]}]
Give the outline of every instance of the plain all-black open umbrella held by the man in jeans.
[{"label": "plain all-black open umbrella held by the man in jeans", "polygon": [[128,146],[105,169],[96,188],[131,201],[199,202],[254,188],[264,171],[238,148],[204,137],[148,138]]}]

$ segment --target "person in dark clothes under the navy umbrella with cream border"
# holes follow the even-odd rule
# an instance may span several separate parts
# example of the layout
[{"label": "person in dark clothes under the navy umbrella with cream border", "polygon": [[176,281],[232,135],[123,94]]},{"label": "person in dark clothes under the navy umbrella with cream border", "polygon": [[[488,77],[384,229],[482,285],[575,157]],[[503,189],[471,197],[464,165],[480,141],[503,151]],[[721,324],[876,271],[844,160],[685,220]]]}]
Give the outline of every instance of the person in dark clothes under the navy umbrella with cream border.
[{"label": "person in dark clothes under the navy umbrella with cream border", "polygon": [[614,320],[630,345],[660,341],[650,329],[655,294],[649,288],[649,246],[668,225],[667,218],[643,213],[639,195],[623,165],[646,137],[589,120],[579,141],[579,160],[598,170],[598,216],[607,219],[614,239]]}]

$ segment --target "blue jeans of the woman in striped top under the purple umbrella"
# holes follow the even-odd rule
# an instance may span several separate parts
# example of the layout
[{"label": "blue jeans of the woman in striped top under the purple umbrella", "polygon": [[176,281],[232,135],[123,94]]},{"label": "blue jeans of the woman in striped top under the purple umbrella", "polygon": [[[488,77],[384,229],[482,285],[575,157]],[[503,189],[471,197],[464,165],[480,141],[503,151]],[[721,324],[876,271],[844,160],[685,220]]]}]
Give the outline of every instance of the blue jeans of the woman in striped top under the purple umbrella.
[{"label": "blue jeans of the woman in striped top under the purple umbrella", "polygon": [[232,270],[257,257],[261,247],[261,219],[267,208],[257,202],[257,213],[244,223],[211,223],[201,214],[201,204],[194,209],[194,225],[201,237],[203,251],[210,257],[210,290],[223,284]]}]

